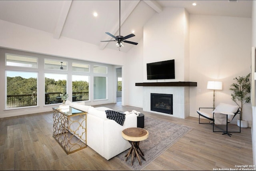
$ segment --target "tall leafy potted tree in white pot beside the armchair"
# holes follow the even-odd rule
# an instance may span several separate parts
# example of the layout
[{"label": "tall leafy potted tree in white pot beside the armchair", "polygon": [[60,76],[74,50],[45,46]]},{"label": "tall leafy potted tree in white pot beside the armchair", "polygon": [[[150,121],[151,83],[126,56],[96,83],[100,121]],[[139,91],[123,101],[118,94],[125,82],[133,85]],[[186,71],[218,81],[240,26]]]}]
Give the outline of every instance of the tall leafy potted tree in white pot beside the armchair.
[{"label": "tall leafy potted tree in white pot beside the armchair", "polygon": [[248,121],[243,120],[243,105],[250,102],[250,74],[242,77],[239,76],[238,78],[236,77],[233,80],[236,80],[236,83],[230,85],[230,90],[233,91],[233,93],[231,93],[231,99],[239,106],[241,110],[241,125],[239,119],[237,119],[237,125],[239,127],[248,127]]}]

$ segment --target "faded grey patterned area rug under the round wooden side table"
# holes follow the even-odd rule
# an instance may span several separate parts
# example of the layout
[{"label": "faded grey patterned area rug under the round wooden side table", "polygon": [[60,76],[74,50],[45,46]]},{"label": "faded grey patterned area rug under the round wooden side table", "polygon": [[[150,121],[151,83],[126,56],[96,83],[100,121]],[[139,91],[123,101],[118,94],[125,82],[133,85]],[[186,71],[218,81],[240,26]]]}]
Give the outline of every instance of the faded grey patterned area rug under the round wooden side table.
[{"label": "faded grey patterned area rug under the round wooden side table", "polygon": [[146,161],[144,161],[140,157],[142,165],[140,165],[137,157],[134,158],[132,166],[131,156],[125,161],[125,155],[128,153],[129,149],[116,156],[122,163],[136,171],[140,171],[149,165],[160,154],[164,153],[164,151],[192,130],[192,128],[184,125],[177,125],[149,117],[144,118],[144,129],[148,131],[148,139],[140,142],[140,149],[146,159]]}]

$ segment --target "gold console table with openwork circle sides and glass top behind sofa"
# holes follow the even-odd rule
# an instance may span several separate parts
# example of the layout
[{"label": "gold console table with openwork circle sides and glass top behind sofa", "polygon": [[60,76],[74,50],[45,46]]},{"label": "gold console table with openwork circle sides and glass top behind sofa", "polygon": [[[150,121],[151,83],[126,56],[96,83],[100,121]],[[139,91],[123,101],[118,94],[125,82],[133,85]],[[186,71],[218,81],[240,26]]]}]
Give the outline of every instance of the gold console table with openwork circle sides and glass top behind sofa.
[{"label": "gold console table with openwork circle sides and glass top behind sofa", "polygon": [[54,137],[64,151],[70,154],[86,148],[87,112],[73,107],[69,107],[68,109],[52,107],[52,109],[52,137]]}]

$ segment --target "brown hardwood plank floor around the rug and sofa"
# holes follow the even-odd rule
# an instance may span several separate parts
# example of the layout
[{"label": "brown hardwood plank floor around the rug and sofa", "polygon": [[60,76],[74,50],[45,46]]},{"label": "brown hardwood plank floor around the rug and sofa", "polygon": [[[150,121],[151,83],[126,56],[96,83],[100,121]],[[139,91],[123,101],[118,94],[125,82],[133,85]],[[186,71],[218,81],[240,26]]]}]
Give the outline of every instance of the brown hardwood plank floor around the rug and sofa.
[{"label": "brown hardwood plank floor around the rug and sofa", "polygon": [[[94,107],[136,110],[145,117],[193,128],[144,170],[214,170],[253,164],[250,127],[229,137],[212,132],[212,125],[199,124],[198,118],[180,119],[120,104]],[[90,147],[66,155],[52,137],[52,120],[52,111],[0,118],[0,170],[130,170],[115,157],[106,160]],[[233,124],[229,127],[238,129]]]}]

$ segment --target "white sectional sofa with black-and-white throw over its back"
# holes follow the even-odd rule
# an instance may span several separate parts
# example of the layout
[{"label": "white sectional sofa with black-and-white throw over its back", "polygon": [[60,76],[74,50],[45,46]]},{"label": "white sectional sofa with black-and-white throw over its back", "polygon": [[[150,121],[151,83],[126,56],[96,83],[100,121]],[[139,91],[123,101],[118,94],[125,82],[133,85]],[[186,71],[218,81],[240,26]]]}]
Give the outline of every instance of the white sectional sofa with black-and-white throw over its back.
[{"label": "white sectional sofa with black-and-white throw over its back", "polygon": [[[122,137],[122,130],[128,127],[137,127],[137,115],[126,114],[124,124],[120,125],[106,117],[107,107],[92,107],[84,105],[84,102],[72,103],[66,101],[66,105],[88,112],[87,114],[87,145],[109,160],[131,147],[130,143]],[[127,112],[126,112],[127,113]],[[76,117],[76,116],[75,116]],[[78,125],[72,124],[72,128]]]}]

